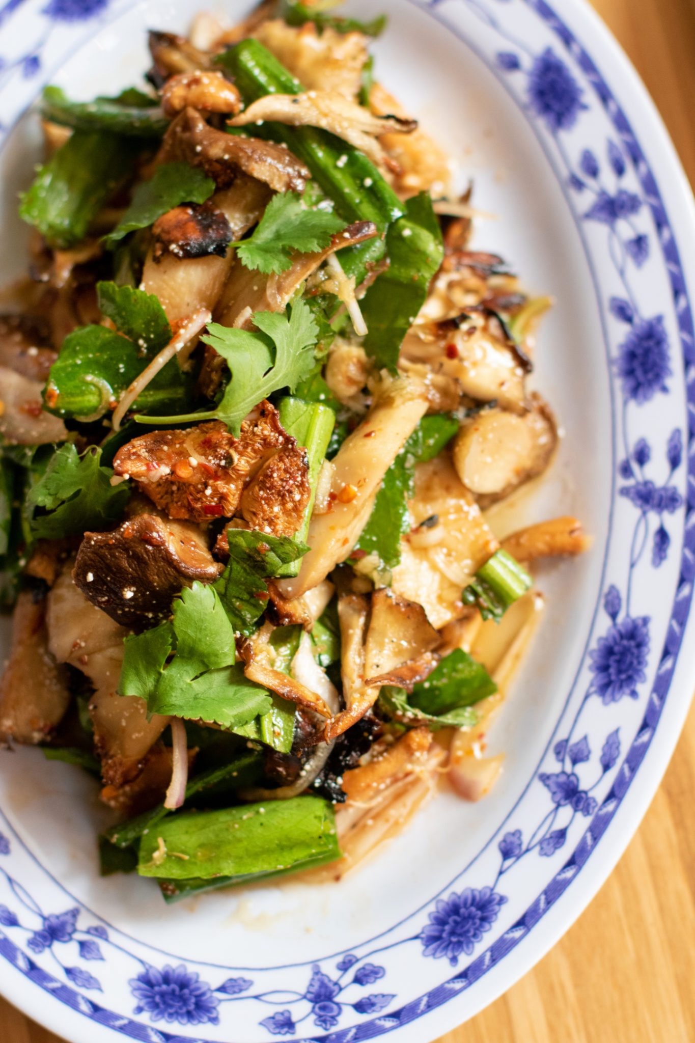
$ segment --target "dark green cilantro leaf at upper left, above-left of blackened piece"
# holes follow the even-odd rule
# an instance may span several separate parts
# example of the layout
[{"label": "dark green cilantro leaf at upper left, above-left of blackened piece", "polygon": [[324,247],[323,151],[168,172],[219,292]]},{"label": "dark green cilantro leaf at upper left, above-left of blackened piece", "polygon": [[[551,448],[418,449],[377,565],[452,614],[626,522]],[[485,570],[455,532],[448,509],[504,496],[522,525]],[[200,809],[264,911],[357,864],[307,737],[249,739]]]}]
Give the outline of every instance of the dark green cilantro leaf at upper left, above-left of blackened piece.
[{"label": "dark green cilantro leaf at upper left, above-left of blackened piece", "polygon": [[215,181],[188,163],[165,163],[149,181],[139,185],[130,205],[103,243],[113,249],[129,232],[147,228],[158,217],[182,202],[204,202],[215,191]]}]

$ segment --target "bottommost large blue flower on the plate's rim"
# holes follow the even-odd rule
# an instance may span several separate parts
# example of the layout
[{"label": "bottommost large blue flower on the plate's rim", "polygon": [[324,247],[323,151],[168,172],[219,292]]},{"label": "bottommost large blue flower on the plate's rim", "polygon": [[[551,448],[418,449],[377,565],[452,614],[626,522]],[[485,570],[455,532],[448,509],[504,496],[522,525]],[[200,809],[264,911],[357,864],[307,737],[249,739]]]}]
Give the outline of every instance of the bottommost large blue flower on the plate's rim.
[{"label": "bottommost large blue flower on the plate's rim", "polygon": [[128,981],[138,1000],[134,1014],[147,1011],[152,1021],[177,1021],[181,1025],[217,1025],[219,999],[195,971],[178,967],[147,967]]}]

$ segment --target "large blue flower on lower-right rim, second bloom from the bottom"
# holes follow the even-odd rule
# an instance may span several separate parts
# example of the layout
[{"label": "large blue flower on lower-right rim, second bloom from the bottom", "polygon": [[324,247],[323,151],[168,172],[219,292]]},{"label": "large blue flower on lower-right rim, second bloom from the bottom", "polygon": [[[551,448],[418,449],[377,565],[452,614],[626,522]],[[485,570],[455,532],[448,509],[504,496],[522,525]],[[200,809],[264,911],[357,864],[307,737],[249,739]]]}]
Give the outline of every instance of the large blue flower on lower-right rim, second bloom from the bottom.
[{"label": "large blue flower on lower-right rim, second bloom from the bottom", "polygon": [[436,960],[446,956],[454,967],[461,953],[470,955],[475,943],[491,929],[505,901],[504,895],[492,888],[466,888],[460,895],[454,892],[440,898],[420,933],[423,954]]}]

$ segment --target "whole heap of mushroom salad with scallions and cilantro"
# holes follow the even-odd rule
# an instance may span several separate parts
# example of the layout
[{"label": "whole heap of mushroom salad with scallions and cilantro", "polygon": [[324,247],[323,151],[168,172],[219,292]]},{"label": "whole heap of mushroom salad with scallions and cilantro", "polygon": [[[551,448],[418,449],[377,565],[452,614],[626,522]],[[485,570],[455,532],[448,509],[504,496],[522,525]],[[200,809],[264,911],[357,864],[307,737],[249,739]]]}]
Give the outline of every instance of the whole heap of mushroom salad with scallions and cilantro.
[{"label": "whole heap of mushroom salad with scallions and cilantro", "polygon": [[[168,901],[340,877],[486,736],[573,517],[496,535],[559,430],[470,189],[376,77],[384,27],[264,0],[44,91],[0,317],[0,737],[98,780],[102,873]],[[10,295],[5,294],[5,299]]]}]

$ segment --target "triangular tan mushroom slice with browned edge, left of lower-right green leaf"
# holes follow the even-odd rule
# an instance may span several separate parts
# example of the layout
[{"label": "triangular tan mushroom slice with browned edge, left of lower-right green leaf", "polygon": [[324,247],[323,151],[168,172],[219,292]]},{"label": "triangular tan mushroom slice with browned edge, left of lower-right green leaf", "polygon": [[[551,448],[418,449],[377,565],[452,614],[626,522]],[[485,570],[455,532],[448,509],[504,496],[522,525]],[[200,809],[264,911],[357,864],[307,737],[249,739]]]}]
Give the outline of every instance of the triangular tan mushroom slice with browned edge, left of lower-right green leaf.
[{"label": "triangular tan mushroom slice with browned edge, left of lower-right green leaf", "polygon": [[437,665],[437,657],[428,653],[439,642],[422,605],[386,587],[375,590],[365,641],[365,683],[412,687]]}]

